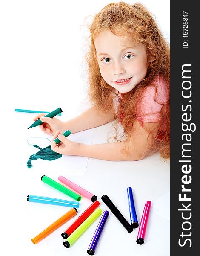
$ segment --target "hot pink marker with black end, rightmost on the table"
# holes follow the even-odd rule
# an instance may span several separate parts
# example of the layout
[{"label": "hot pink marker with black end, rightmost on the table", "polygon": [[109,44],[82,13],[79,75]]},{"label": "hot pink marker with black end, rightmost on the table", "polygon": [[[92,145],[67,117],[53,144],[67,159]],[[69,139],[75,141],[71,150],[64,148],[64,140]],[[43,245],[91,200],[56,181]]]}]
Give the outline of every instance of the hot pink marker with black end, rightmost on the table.
[{"label": "hot pink marker with black end, rightmost on the table", "polygon": [[146,201],[145,206],[144,206],[144,210],[143,210],[143,215],[142,215],[142,219],[140,222],[140,227],[139,227],[139,231],[137,234],[137,244],[143,244],[144,243],[144,237],[145,237],[145,232],[146,232],[146,226],[147,226],[147,221],[149,218],[149,211],[151,208],[151,201]]}]

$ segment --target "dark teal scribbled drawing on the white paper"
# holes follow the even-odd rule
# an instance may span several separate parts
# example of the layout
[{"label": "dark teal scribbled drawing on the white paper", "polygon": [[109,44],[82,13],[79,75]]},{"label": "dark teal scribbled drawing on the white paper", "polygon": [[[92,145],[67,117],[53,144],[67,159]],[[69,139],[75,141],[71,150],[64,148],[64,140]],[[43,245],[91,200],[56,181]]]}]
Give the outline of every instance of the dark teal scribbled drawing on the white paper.
[{"label": "dark teal scribbled drawing on the white paper", "polygon": [[43,159],[43,160],[52,161],[52,160],[62,157],[62,154],[56,153],[53,150],[51,150],[51,145],[46,148],[40,148],[37,145],[33,145],[33,146],[40,149],[40,151],[38,151],[37,153],[35,153],[29,157],[29,161],[27,162],[28,168],[32,167],[31,161],[33,161],[33,160]]}]

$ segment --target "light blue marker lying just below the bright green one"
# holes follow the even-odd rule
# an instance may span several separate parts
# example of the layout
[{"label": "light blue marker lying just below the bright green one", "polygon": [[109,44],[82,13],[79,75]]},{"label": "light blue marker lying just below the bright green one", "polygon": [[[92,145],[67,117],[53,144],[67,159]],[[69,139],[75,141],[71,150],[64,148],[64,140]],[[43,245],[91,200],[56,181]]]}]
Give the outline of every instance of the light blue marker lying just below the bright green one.
[{"label": "light blue marker lying just below the bright green one", "polygon": [[42,204],[54,204],[54,205],[61,205],[66,207],[79,207],[79,202],[75,201],[68,201],[63,199],[57,198],[48,198],[44,196],[38,195],[27,195],[27,201],[34,202],[34,203],[42,203]]}]

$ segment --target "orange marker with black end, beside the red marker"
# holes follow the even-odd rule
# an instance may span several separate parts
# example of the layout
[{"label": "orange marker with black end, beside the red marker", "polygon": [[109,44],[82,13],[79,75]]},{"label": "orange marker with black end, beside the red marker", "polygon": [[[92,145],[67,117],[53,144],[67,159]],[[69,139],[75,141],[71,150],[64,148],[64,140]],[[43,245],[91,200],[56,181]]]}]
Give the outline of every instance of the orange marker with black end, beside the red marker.
[{"label": "orange marker with black end, beside the red marker", "polygon": [[72,208],[71,210],[69,210],[68,212],[66,212],[66,214],[64,214],[63,216],[61,216],[59,219],[57,219],[57,221],[55,221],[54,223],[52,223],[49,227],[47,227],[45,230],[43,230],[39,235],[37,235],[36,237],[34,237],[33,239],[31,239],[31,241],[34,244],[37,244],[39,241],[41,241],[42,239],[44,239],[46,236],[48,236],[50,233],[52,233],[54,230],[56,230],[58,227],[60,227],[61,225],[63,225],[66,221],[68,221],[69,219],[71,219],[74,215],[76,215],[78,213],[76,208]]}]

